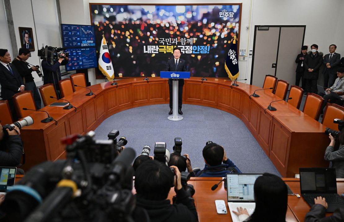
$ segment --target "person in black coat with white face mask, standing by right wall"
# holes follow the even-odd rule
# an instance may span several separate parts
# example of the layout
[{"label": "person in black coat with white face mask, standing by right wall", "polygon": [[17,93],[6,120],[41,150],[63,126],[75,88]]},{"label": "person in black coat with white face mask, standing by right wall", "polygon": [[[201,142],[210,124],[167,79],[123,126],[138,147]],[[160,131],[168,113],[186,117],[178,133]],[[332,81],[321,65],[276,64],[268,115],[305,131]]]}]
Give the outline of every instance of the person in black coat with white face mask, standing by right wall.
[{"label": "person in black coat with white face mask, standing by right wall", "polygon": [[311,52],[303,60],[304,74],[303,78],[306,79],[306,92],[318,93],[316,84],[319,77],[319,69],[323,61],[323,53],[318,52],[318,45],[311,45]]}]

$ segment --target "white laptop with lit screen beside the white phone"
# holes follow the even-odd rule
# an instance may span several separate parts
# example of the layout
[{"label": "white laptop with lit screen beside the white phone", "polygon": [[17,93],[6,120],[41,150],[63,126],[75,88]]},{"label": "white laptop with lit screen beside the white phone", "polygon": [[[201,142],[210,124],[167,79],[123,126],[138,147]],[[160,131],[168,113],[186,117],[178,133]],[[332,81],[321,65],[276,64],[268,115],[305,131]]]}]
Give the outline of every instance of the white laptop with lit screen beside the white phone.
[{"label": "white laptop with lit screen beside the white phone", "polygon": [[256,179],[262,174],[226,174],[227,202],[233,222],[239,222],[232,211],[237,207],[246,208],[251,215],[256,208],[253,187]]}]

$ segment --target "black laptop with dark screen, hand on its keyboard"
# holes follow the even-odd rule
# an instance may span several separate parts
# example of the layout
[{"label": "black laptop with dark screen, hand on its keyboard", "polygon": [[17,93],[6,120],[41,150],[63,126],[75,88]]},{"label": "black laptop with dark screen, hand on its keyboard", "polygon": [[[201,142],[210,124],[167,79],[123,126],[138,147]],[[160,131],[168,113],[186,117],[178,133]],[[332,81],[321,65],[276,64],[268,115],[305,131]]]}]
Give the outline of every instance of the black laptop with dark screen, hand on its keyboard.
[{"label": "black laptop with dark screen, hand on its keyboard", "polygon": [[300,190],[311,207],[314,205],[314,198],[319,196],[326,199],[329,206],[326,212],[344,207],[344,200],[337,193],[335,168],[300,168]]}]

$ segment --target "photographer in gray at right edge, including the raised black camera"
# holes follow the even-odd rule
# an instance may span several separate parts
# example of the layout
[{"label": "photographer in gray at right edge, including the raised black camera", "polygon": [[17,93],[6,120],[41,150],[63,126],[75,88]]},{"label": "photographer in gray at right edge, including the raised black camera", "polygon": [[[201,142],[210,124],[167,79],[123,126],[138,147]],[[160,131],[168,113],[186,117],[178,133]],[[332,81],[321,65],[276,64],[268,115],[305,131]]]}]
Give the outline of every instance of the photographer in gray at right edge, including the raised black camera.
[{"label": "photographer in gray at right edge, including the raised black camera", "polygon": [[[344,178],[344,121],[340,119],[334,119],[333,122],[338,124],[339,131],[326,128],[325,133],[329,135],[331,142],[325,150],[324,159],[327,161],[331,161],[330,167],[336,169],[337,178]],[[338,141],[340,143],[338,149],[335,148],[336,138],[338,138]]]}]

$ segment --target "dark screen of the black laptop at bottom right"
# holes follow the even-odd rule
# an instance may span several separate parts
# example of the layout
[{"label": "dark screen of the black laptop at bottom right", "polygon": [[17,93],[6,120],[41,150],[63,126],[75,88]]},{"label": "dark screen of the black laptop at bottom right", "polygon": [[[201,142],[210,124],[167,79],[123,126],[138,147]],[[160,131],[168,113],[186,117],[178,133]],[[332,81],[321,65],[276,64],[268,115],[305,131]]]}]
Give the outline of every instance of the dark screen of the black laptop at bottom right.
[{"label": "dark screen of the black laptop at bottom right", "polygon": [[300,168],[301,193],[337,193],[334,168]]}]

